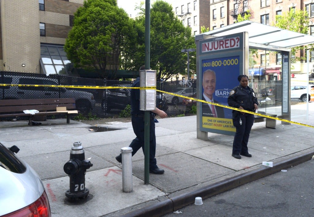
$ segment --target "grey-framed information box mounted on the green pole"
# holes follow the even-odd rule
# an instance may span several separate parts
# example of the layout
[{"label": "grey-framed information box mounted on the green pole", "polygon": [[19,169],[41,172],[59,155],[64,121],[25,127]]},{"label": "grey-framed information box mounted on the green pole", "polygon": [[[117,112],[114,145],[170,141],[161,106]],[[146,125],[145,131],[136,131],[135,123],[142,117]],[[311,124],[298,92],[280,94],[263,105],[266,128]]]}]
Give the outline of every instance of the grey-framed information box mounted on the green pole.
[{"label": "grey-framed information box mounted on the green pole", "polygon": [[140,110],[156,109],[156,70],[140,71]]}]

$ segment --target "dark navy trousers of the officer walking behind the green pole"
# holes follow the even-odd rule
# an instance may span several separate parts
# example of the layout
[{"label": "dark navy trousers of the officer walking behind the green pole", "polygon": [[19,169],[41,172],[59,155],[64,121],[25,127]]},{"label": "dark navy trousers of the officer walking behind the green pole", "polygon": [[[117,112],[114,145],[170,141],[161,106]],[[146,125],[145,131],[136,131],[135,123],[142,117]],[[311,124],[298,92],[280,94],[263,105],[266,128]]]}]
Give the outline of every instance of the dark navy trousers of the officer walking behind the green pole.
[{"label": "dark navy trousers of the officer walking behind the green pole", "polygon": [[[136,135],[136,138],[132,140],[129,147],[133,149],[132,156],[142,148],[143,153],[145,153],[144,148],[144,118],[132,116],[132,127]],[[157,168],[156,155],[156,135],[155,135],[155,123],[154,119],[149,118],[149,169]]]}]

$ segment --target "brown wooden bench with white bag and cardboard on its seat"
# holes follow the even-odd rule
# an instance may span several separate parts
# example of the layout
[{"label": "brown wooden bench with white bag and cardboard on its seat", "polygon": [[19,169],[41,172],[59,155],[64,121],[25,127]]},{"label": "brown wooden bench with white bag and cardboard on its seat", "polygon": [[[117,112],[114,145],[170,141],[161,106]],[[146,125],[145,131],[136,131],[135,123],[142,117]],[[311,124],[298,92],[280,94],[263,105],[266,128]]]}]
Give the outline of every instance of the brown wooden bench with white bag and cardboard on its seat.
[{"label": "brown wooden bench with white bag and cardboard on its seat", "polygon": [[[37,110],[39,113],[26,114],[24,110]],[[70,115],[77,114],[74,98],[53,99],[4,99],[0,100],[1,117],[29,116],[29,125],[33,125],[33,118],[40,115],[66,114],[67,124]]]}]

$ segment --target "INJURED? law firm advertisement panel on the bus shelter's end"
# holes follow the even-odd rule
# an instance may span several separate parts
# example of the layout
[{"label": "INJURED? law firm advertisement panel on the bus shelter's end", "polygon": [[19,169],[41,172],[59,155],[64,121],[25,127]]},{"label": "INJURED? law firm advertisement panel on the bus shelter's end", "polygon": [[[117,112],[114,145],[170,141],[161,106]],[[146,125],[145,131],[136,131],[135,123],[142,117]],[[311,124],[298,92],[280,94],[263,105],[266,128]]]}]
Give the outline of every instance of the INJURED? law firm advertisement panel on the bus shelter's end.
[{"label": "INJURED? law firm advertisement panel on the bus shelter's end", "polygon": [[248,33],[199,40],[197,49],[198,96],[213,103],[200,103],[199,129],[234,135],[232,109],[218,104],[228,105],[230,91],[239,85],[237,77],[248,70]]}]

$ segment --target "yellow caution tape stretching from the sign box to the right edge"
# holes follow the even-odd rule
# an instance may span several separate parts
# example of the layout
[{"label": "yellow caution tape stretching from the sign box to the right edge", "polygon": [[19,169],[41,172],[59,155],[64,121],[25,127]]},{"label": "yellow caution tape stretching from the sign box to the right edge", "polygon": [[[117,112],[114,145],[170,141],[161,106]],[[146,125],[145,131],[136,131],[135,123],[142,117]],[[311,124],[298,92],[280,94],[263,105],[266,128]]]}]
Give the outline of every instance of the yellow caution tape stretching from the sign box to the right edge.
[{"label": "yellow caution tape stretching from the sign box to the right edge", "polygon": [[314,128],[314,126],[309,125],[309,124],[302,124],[302,123],[291,121],[291,120],[286,120],[286,119],[282,119],[282,118],[269,116],[267,114],[260,114],[260,113],[256,113],[256,112],[246,111],[246,110],[243,110],[243,109],[240,109],[240,108],[234,108],[234,107],[230,107],[230,106],[227,106],[227,105],[222,105],[222,104],[219,104],[219,103],[212,103],[212,102],[208,102],[208,101],[205,101],[205,100],[202,100],[202,99],[196,99],[196,98],[192,98],[192,97],[182,96],[182,95],[178,95],[178,94],[175,94],[175,93],[165,92],[165,91],[162,91],[162,90],[156,90],[156,91],[161,92],[161,93],[171,94],[171,95],[182,97],[182,98],[186,98],[186,99],[191,99],[191,100],[198,101],[198,102],[201,102],[201,103],[208,103],[208,104],[212,104],[212,105],[215,105],[215,106],[220,106],[220,107],[223,107],[223,108],[229,108],[229,109],[232,109],[232,110],[245,112],[245,113],[248,113],[248,114],[254,114],[254,115],[257,115],[257,116],[262,116],[264,118],[270,118],[270,119],[280,120],[280,121],[284,121],[284,122],[291,123],[291,124],[298,124],[300,126],[306,126],[306,127]]}]

